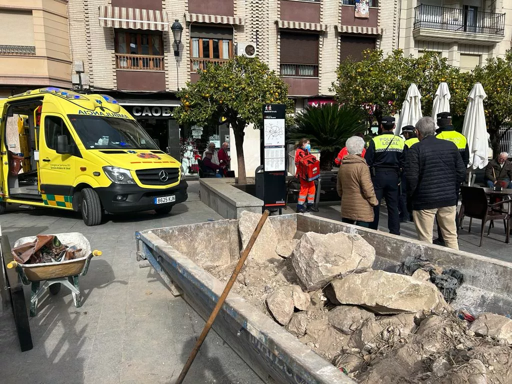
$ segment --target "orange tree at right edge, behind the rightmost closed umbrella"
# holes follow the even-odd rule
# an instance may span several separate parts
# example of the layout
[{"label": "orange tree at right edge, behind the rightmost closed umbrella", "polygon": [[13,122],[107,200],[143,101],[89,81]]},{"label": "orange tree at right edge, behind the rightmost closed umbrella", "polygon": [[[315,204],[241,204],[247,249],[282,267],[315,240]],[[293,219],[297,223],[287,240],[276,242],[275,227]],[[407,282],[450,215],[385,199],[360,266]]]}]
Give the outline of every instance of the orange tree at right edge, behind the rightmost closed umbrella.
[{"label": "orange tree at right edge, behind the rightmost closed umbrella", "polygon": [[500,152],[500,141],[505,134],[500,134],[500,128],[503,123],[512,121],[512,51],[507,51],[503,58],[487,59],[484,67],[475,68],[474,77],[487,94],[483,102],[485,120],[496,155]]}]

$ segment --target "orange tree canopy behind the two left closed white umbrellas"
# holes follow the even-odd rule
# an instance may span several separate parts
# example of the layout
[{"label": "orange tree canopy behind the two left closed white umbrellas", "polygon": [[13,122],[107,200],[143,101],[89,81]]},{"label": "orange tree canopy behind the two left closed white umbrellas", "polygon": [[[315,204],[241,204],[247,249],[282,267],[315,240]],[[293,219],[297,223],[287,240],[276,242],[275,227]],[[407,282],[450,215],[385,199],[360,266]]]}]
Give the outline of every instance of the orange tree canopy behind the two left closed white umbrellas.
[{"label": "orange tree canopy behind the two left closed white umbrellas", "polygon": [[373,110],[380,126],[382,116],[399,112],[411,83],[418,86],[422,95],[423,113],[430,115],[436,89],[442,81],[448,83],[452,93],[452,112],[463,114],[471,78],[435,53],[416,58],[404,56],[401,50],[387,56],[380,50],[364,51],[363,60],[347,59],[340,63],[332,90],[340,103],[364,105],[367,111]]}]

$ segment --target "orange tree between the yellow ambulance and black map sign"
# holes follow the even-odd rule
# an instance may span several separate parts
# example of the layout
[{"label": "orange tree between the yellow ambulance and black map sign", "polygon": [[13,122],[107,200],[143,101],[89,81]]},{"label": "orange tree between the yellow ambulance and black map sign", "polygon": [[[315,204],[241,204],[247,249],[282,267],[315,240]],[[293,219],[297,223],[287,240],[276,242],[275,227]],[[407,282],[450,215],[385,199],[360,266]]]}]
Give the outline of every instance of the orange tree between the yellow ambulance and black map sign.
[{"label": "orange tree between the yellow ambulance and black map sign", "polygon": [[200,73],[196,83],[187,82],[178,91],[182,105],[175,109],[174,116],[180,124],[230,124],[237,148],[238,181],[245,184],[245,127],[254,124],[255,129],[261,129],[265,103],[285,104],[290,125],[295,111],[287,97],[288,86],[259,58],[236,56],[222,66],[208,65]]}]

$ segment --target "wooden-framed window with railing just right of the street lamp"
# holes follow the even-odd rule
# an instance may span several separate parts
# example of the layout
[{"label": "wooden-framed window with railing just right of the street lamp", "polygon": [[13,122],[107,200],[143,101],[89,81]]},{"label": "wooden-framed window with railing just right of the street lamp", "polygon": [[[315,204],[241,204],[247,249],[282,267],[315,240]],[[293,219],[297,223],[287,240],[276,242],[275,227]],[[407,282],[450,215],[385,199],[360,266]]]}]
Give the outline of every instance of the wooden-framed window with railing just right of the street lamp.
[{"label": "wooden-framed window with railing just right of the street lamp", "polygon": [[233,58],[233,29],[193,26],[190,29],[190,72],[222,65]]}]

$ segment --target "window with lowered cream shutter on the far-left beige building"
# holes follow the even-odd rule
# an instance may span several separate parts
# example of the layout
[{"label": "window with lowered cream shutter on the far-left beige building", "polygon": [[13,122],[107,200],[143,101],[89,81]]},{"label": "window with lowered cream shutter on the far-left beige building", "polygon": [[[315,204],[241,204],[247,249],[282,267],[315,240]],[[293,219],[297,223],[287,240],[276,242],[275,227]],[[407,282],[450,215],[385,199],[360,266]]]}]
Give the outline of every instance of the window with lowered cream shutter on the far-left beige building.
[{"label": "window with lowered cream shutter on the far-left beige building", "polygon": [[0,9],[0,55],[35,55],[32,11]]}]

